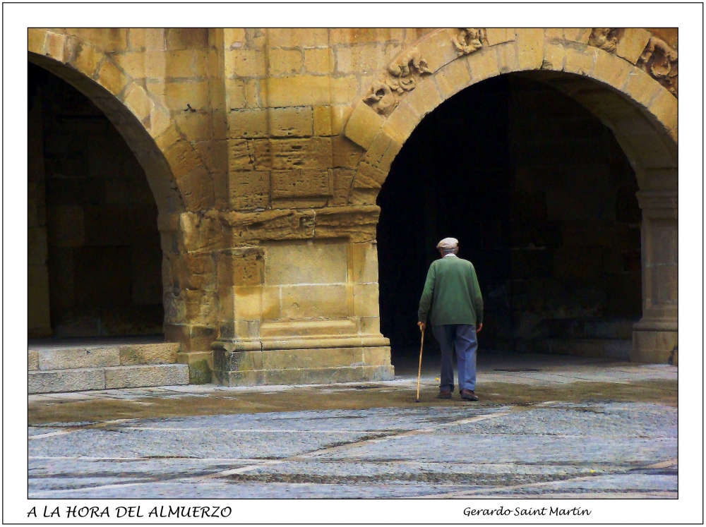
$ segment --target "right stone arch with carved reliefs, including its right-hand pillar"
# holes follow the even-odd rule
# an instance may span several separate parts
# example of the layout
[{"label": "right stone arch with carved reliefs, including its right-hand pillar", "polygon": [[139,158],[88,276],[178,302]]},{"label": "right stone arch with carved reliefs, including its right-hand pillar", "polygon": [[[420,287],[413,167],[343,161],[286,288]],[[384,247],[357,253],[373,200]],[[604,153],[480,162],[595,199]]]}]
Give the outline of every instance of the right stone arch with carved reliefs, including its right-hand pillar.
[{"label": "right stone arch with carved reliefs, including its right-hand pillar", "polygon": [[[676,79],[665,80],[659,69],[655,75],[648,54],[664,46],[637,29],[441,29],[422,37],[381,73],[347,121],[344,135],[364,149],[348,205],[375,205],[405,140],[439,104],[495,75],[532,72],[599,117],[635,169],[643,316],[634,328],[632,358],[676,361]],[[663,52],[661,60],[669,69],[676,52]]]}]

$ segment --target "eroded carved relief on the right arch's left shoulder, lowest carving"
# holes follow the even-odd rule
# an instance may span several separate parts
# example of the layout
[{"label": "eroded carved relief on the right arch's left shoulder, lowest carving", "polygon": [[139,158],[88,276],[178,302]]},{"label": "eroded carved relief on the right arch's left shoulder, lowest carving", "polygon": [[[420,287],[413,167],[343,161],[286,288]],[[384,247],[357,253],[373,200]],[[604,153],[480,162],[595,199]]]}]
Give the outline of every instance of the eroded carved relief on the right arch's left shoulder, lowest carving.
[{"label": "eroded carved relief on the right arch's left shoulder, lowest carving", "polygon": [[381,115],[390,114],[407,92],[417,87],[422,75],[431,73],[419,50],[409,49],[388,66],[385,73],[373,83],[364,101]]}]

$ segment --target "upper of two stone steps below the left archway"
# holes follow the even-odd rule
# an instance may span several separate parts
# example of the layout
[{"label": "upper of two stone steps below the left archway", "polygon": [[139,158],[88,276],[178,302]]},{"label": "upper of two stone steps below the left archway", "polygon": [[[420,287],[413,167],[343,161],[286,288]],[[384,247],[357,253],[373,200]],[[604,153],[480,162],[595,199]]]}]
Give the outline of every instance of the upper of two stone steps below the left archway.
[{"label": "upper of two stone steps below the left archway", "polygon": [[28,369],[77,370],[80,368],[109,368],[174,364],[177,362],[179,344],[158,342],[148,344],[80,344],[56,343],[32,346],[28,349]]}]

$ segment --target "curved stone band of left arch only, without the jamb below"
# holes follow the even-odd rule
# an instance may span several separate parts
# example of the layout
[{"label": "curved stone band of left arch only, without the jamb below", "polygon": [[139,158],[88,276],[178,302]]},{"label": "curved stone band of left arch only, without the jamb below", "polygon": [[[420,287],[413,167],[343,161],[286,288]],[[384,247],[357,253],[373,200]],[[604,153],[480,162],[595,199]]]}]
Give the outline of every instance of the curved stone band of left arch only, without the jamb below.
[{"label": "curved stone band of left arch only, without the jamb below", "polygon": [[32,28],[28,37],[30,62],[89,97],[126,140],[145,169],[160,226],[176,222],[169,215],[213,207],[213,183],[203,159],[148,90],[90,42]]}]

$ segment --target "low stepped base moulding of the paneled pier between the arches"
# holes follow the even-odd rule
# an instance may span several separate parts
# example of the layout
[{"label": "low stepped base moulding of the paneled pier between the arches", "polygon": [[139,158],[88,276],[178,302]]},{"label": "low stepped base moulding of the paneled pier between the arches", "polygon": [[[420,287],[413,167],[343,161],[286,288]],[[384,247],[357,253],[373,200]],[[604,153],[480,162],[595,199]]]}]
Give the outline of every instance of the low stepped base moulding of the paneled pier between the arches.
[{"label": "low stepped base moulding of the paneled pier between the arches", "polygon": [[389,346],[228,351],[214,344],[213,382],[222,386],[393,380]]}]

